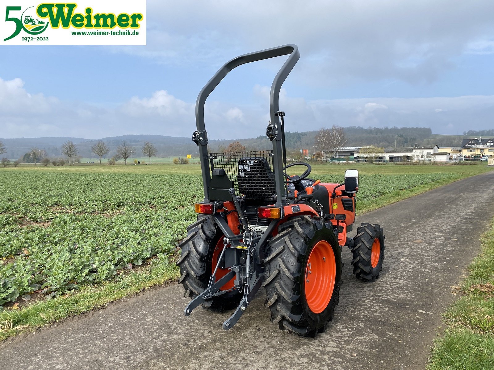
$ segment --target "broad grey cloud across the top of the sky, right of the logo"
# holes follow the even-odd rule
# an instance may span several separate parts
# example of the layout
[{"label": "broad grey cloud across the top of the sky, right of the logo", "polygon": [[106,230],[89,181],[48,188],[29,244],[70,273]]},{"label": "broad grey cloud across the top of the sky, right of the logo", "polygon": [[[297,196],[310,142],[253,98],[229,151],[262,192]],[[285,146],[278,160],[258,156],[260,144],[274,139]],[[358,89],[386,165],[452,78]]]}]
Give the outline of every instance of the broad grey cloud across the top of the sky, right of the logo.
[{"label": "broad grey cloud across the top of the sky, right of the logo", "polygon": [[464,53],[492,53],[493,13],[491,0],[149,0],[148,45],[112,50],[197,68],[295,43],[303,55],[292,77],[298,81],[420,84],[437,80]]}]

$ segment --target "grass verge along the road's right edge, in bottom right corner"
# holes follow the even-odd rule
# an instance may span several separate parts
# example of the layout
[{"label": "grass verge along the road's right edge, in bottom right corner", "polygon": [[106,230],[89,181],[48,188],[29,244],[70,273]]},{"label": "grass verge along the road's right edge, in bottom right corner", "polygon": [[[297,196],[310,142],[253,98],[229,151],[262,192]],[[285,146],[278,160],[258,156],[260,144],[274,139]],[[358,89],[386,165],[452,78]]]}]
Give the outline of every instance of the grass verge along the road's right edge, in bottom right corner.
[{"label": "grass verge along the road's right edge, in bottom right corner", "polygon": [[434,342],[428,370],[494,369],[494,220],[468,269],[463,296],[443,315],[446,330]]}]

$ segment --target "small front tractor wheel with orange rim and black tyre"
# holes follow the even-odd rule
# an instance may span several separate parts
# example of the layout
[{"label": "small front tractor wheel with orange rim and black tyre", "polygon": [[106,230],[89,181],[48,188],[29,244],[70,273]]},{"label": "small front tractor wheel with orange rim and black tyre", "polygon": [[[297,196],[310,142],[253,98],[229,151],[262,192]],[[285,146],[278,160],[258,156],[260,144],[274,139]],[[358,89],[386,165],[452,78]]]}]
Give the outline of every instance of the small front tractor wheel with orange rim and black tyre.
[{"label": "small front tractor wheel with orange rim and black tyre", "polygon": [[350,243],[353,273],[357,279],[374,282],[379,278],[384,260],[383,229],[376,223],[362,223]]}]

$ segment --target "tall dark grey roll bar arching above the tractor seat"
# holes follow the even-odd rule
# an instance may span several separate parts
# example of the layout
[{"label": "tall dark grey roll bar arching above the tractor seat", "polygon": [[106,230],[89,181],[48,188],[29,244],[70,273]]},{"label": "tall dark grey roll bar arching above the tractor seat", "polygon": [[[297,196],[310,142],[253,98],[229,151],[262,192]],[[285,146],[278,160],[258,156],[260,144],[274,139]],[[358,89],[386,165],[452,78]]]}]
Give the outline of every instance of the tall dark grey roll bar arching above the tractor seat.
[{"label": "tall dark grey roll bar arching above the tractor seat", "polygon": [[[204,183],[204,196],[205,201],[208,201],[209,194],[209,179],[210,179],[210,171],[207,162],[207,133],[206,133],[206,125],[204,123],[204,105],[206,103],[206,99],[211,94],[211,92],[218,86],[221,80],[234,68],[237,68],[243,64],[256,62],[259,60],[276,58],[282,55],[289,55],[287,61],[283,64],[282,68],[276,74],[275,79],[273,80],[273,84],[271,85],[271,92],[269,95],[269,111],[271,117],[272,125],[280,124],[280,114],[278,114],[279,110],[279,98],[280,98],[280,90],[283,82],[288,77],[288,74],[291,72],[298,59],[300,58],[300,53],[298,52],[297,45],[288,44],[273,47],[270,49],[264,49],[260,51],[254,51],[253,53],[244,54],[233,58],[229,62],[225,63],[219,70],[211,77],[211,79],[206,83],[203,87],[199,96],[197,97],[196,102],[196,125],[197,131],[194,132],[192,139],[199,146],[199,150],[201,152],[201,168],[203,173],[203,183]],[[283,116],[282,116],[283,117]],[[281,205],[282,201],[286,200],[286,189],[285,189],[285,179],[283,175],[283,152],[285,143],[282,143],[282,135],[281,133],[284,131],[284,128],[281,127],[281,130],[277,130],[279,134],[276,135],[276,138],[273,140],[273,170],[275,173],[275,185],[277,192],[277,205]]]}]

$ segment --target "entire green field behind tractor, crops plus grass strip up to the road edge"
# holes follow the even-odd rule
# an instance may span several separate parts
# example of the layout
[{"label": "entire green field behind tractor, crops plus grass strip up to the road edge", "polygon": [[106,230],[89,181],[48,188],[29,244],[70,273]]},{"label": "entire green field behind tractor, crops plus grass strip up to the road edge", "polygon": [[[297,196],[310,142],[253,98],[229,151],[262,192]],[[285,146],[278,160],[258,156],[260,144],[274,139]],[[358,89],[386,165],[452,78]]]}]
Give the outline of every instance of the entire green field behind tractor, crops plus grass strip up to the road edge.
[{"label": "entire green field behind tractor, crops plus grass strip up to the road edge", "polygon": [[[312,177],[342,182],[347,168],[360,171],[358,214],[490,170],[325,164]],[[203,197],[196,164],[9,167],[0,188],[0,339],[175,279]]]}]

